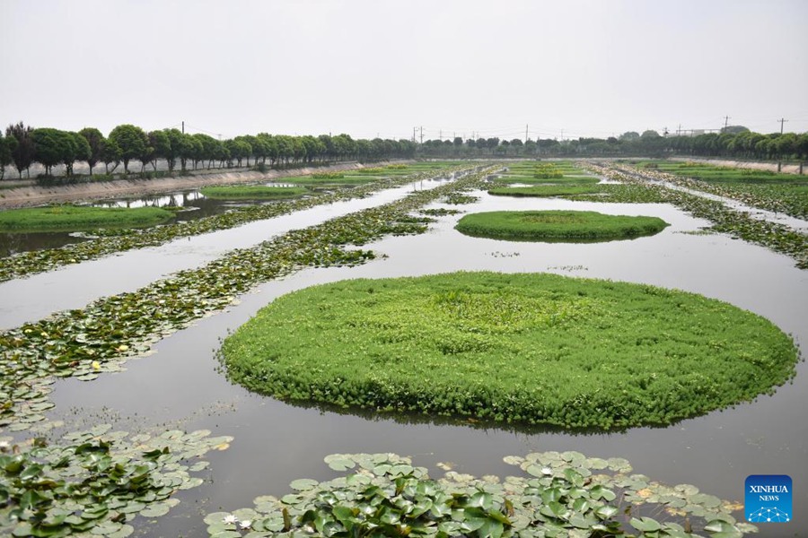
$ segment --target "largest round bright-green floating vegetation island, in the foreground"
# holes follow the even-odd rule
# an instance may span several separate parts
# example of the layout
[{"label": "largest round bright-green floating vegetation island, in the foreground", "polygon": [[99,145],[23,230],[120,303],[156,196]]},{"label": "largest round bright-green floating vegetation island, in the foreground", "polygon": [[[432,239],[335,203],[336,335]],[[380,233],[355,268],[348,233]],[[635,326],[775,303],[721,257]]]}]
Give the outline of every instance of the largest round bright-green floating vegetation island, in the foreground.
[{"label": "largest round bright-green floating vegetation island, in the foreground", "polygon": [[224,341],[278,399],[610,430],[770,394],[795,344],[683,291],[545,273],[353,280],[276,299]]}]

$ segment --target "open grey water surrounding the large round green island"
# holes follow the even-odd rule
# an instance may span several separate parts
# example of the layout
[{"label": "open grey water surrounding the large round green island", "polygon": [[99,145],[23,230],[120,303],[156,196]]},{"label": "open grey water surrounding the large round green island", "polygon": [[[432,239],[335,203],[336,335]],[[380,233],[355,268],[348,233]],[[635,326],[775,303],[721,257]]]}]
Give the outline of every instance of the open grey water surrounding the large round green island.
[{"label": "open grey water surrounding the large round green island", "polygon": [[[439,475],[434,466],[437,462],[452,462],[461,472],[504,476],[518,470],[503,464],[503,456],[578,450],[589,456],[627,457],[637,473],[672,484],[692,483],[725,499],[742,500],[743,482],[749,474],[790,474],[795,490],[804,490],[808,482],[808,422],[804,419],[808,372],[804,362],[799,364],[793,384],[751,404],[668,428],[598,435],[481,428],[425,417],[361,416],[305,408],[251,395],[217,371],[215,349],[220,339],[279,295],[346,278],[463,269],[548,271],[695,291],[768,317],[798,343],[808,342],[808,272],[796,269],[786,256],[723,235],[690,235],[687,232],[707,221],[693,219],[669,205],[479,195],[483,197],[479,204],[461,209],[575,208],[654,215],[672,225],[654,237],[609,243],[517,243],[463,236],[452,229],[461,215],[447,216],[425,235],[384,239],[372,246],[387,258],[356,268],[306,270],[268,282],[243,296],[238,306],[157,343],[154,355],[129,362],[124,373],[102,376],[90,384],[72,379],[58,382],[54,416],[73,421],[78,413],[91,422],[114,421],[117,428],[131,430],[155,425],[206,428],[214,435],[235,438],[228,450],[207,456],[212,483],[183,492],[182,503],[169,516],[139,530],[150,536],[206,535],[201,514],[250,507],[251,500],[262,494],[282,495],[288,491],[288,482],[296,478],[329,478],[333,473],[322,458],[336,452],[414,456],[418,464],[431,467],[434,476]],[[324,217],[332,210],[321,207],[317,214]],[[135,255],[120,257],[127,256],[129,263],[145,268],[140,265],[145,262],[132,257]],[[206,258],[196,250],[188,256],[195,264]],[[97,277],[89,265],[85,269]],[[35,289],[29,292],[37,294]],[[94,292],[106,293],[101,289]],[[20,300],[16,299],[18,308]],[[794,502],[795,522],[763,525],[761,535],[808,534],[804,516],[808,496],[798,492]]]}]

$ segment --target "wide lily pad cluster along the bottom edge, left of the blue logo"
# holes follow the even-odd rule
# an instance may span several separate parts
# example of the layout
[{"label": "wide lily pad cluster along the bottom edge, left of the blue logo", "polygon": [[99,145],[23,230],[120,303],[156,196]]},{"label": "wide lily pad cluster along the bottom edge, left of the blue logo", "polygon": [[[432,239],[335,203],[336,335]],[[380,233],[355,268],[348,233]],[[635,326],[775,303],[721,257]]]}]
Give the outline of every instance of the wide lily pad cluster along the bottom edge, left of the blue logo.
[{"label": "wide lily pad cluster along the bottom edge, left of the blue logo", "polygon": [[631,465],[621,458],[578,452],[506,456],[505,463],[523,474],[502,481],[452,471],[433,480],[426,468],[395,454],[335,454],[325,461],[346,474],[328,482],[296,480],[290,484],[294,492],[280,499],[265,495],[254,508],[208,514],[207,533],[730,538],[757,531],[735,520],[737,503],[688,484],[667,486],[630,474]]}]

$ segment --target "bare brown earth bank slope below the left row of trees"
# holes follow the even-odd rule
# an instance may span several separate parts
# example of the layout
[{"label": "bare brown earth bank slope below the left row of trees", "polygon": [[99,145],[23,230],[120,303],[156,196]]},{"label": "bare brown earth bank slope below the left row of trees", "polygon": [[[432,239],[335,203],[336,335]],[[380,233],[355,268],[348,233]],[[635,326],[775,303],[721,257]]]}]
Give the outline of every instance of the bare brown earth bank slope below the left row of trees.
[{"label": "bare brown earth bank slope below the left row of trees", "polygon": [[[289,176],[304,176],[313,172],[341,171],[364,168],[358,162],[346,162],[332,166],[268,170],[221,171],[198,173],[194,176],[160,179],[116,179],[97,183],[77,183],[58,187],[14,187],[0,190],[0,209],[29,207],[42,204],[58,204],[79,200],[102,200],[122,196],[156,195],[161,193],[189,190],[208,185],[235,185],[255,183]],[[200,170],[201,172],[201,170]]]}]

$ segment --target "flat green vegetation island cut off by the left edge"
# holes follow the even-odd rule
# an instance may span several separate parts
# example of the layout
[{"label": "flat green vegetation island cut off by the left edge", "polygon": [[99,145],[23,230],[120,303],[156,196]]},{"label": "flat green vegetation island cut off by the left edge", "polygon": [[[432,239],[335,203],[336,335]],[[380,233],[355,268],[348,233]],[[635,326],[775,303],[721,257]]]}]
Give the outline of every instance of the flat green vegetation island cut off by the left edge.
[{"label": "flat green vegetation island cut off by the left edge", "polygon": [[140,228],[171,219],[159,207],[89,207],[52,205],[0,212],[0,231],[78,231],[98,228]]}]

